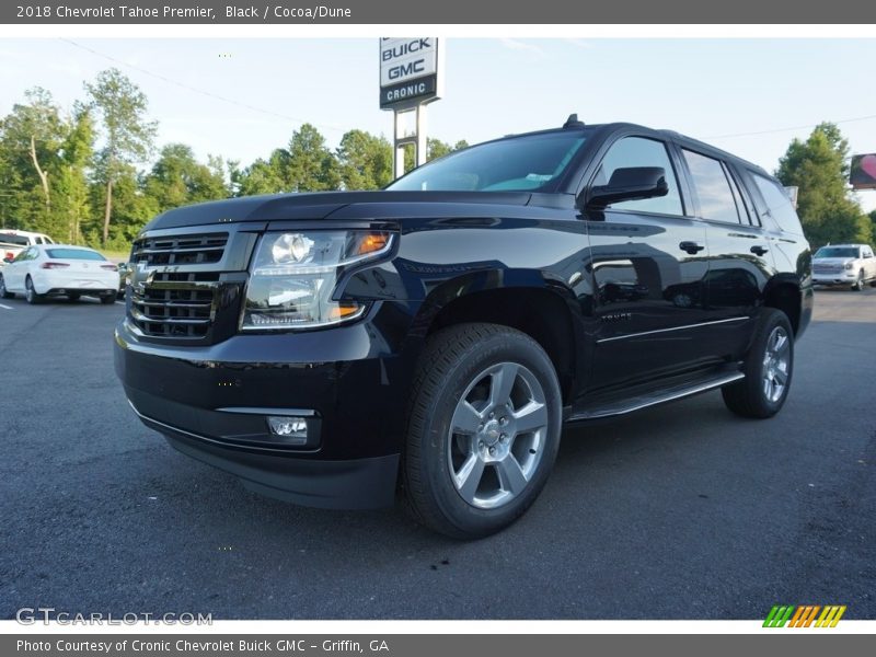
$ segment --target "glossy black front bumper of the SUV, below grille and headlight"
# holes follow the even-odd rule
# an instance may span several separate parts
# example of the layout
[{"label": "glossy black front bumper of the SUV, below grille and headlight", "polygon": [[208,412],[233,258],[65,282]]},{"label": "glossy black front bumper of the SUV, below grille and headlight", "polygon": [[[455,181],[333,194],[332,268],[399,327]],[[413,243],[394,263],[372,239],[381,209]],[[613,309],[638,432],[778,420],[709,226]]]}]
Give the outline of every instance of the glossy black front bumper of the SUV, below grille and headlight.
[{"label": "glossy black front bumper of the SUV, below grille and headlight", "polygon": [[[197,347],[142,341],[123,321],[115,367],[136,413],[177,450],[272,497],[377,508],[394,499],[411,362],[374,319]],[[306,447],[266,422],[299,412],[310,413]]]}]

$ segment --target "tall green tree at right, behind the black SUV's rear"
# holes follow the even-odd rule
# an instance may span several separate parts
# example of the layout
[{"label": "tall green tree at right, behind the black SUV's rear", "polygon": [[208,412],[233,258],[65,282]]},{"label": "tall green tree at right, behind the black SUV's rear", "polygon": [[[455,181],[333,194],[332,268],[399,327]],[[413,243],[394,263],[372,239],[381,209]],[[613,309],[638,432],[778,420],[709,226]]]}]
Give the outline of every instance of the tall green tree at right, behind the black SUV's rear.
[{"label": "tall green tree at right, behind the black SUV's rear", "polygon": [[806,141],[794,139],[779,161],[776,177],[799,187],[797,214],[812,246],[861,242],[871,228],[849,191],[849,142],[831,123],[819,124]]}]

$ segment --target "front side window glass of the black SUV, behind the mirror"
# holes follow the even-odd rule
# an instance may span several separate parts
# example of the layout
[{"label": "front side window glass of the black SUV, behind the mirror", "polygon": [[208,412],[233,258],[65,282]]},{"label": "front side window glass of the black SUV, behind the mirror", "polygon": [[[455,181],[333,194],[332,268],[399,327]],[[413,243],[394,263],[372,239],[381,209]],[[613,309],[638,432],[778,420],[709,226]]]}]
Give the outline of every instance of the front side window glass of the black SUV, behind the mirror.
[{"label": "front side window glass of the black SUV, behind the mirror", "polygon": [[684,215],[681,205],[681,195],[678,192],[678,180],[666,145],[655,139],[645,137],[624,137],[615,141],[593,178],[593,185],[606,185],[611,180],[615,169],[629,166],[660,166],[666,172],[666,182],[669,193],[666,196],[643,198],[642,200],[624,200],[609,206],[612,210],[632,210],[635,212],[656,212],[660,215]]}]

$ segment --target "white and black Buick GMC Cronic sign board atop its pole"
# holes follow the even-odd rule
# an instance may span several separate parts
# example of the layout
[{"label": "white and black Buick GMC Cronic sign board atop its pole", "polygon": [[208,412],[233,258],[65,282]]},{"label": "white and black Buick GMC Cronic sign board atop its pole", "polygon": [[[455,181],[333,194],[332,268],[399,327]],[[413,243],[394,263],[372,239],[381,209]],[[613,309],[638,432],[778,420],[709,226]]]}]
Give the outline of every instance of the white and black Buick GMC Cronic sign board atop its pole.
[{"label": "white and black Buick GMC Cronic sign board atop its pole", "polygon": [[413,106],[440,97],[438,38],[380,39],[380,108]]}]

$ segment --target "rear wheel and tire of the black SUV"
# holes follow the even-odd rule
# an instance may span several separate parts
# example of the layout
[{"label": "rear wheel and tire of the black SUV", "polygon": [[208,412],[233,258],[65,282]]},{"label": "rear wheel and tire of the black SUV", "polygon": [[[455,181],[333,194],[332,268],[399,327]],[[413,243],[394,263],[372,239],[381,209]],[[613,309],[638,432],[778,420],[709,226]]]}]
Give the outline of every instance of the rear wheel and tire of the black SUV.
[{"label": "rear wheel and tire of the black SUV", "polygon": [[721,389],[727,408],[759,419],[779,413],[794,373],[794,331],[781,310],[763,310],[742,372],[745,379]]}]

